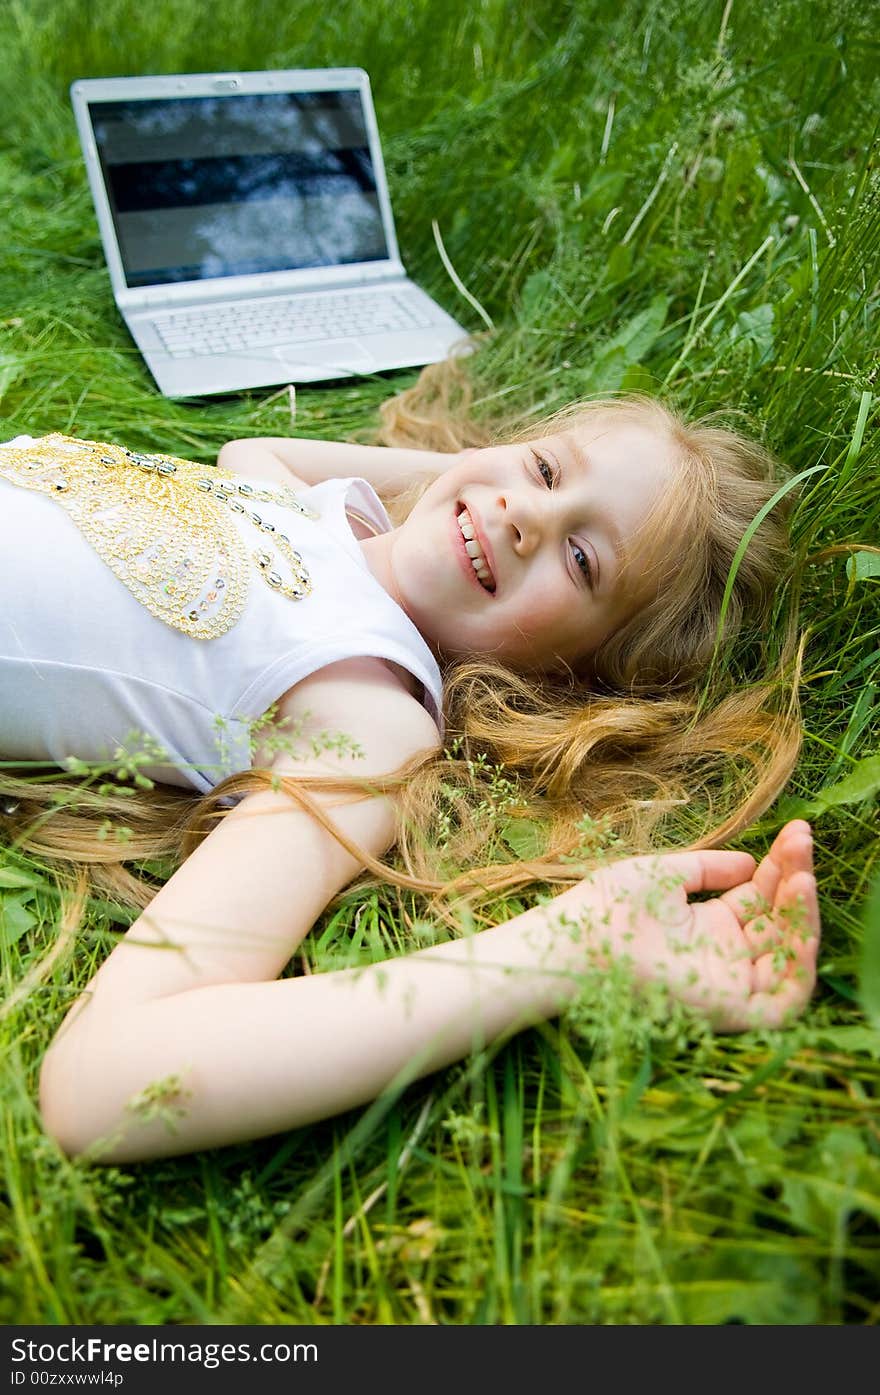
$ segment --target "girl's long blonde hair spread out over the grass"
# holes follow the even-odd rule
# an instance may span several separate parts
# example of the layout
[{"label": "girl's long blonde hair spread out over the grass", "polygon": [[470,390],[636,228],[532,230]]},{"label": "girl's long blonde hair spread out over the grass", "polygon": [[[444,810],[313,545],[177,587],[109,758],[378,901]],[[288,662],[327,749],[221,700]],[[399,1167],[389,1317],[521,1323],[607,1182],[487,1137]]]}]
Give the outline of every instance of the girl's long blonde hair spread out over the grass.
[{"label": "girl's long blonde hair spread out over the grass", "polygon": [[[778,485],[780,467],[761,445],[715,423],[689,425],[644,396],[582,403],[527,430],[492,427],[471,410],[467,377],[455,361],[425,370],[414,388],[385,403],[377,439],[456,451],[577,430],[600,413],[648,423],[672,444],[675,484],[651,516],[650,534],[675,529],[682,545],[675,569],[658,575],[655,598],[593,656],[590,684],[575,674],[536,678],[460,660],[443,674],[441,755],[410,760],[382,780],[283,781],[356,854],[361,880],[431,893],[443,915],[441,898],[488,904],[533,883],[569,883],[609,844],[623,852],[722,843],[773,802],[798,756],[794,619],[770,626],[771,638],[781,636],[775,653],[761,633],[789,562],[784,506],[763,519],[728,582],[745,531]],[[393,522],[424,488],[385,501]],[[735,638],[750,670],[731,667]],[[172,870],[223,817],[229,797],[269,780],[248,770],[205,797],[158,787],[123,798],[106,785],[59,781],[57,773],[0,770],[0,827],[59,873],[85,869],[95,891],[142,908],[156,884],[137,865],[155,870],[160,859]],[[349,843],[312,790],[393,792],[396,865]],[[515,850],[523,855],[512,857]]]}]

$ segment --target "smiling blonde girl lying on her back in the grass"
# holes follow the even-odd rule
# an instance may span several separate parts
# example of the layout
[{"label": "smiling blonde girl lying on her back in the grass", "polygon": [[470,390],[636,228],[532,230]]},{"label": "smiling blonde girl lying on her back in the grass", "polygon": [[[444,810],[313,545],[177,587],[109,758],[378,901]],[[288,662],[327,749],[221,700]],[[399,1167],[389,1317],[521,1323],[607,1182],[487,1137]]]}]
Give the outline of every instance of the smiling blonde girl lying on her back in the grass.
[{"label": "smiling blonde girl lying on her back in the grass", "polygon": [[[233,441],[219,469],[63,437],[0,451],[0,746],[113,756],[144,791],[3,781],[17,845],[89,864],[144,908],[43,1063],[45,1126],[71,1155],[324,1119],[562,1011],[612,964],[721,1031],[809,1000],[809,827],[787,824],[757,866],[708,847],[780,791],[794,716],[767,686],[696,696],[721,621],[729,643],[778,580],[777,509],[725,597],[768,458],[643,398],[494,445],[437,414],[425,431],[420,400],[389,417],[390,449]],[[134,730],[146,749],[123,755]],[[748,790],[718,823],[711,776],[731,788],[742,759]],[[545,854],[449,883],[487,838],[485,801],[469,809],[450,770],[506,815],[540,813]],[[597,857],[597,830],[647,848],[688,798],[692,851]],[[393,844],[403,873],[379,861]],[[121,868],[158,854],[184,858],[158,891]],[[364,868],[464,898],[563,890],[382,964],[279,978]]]}]

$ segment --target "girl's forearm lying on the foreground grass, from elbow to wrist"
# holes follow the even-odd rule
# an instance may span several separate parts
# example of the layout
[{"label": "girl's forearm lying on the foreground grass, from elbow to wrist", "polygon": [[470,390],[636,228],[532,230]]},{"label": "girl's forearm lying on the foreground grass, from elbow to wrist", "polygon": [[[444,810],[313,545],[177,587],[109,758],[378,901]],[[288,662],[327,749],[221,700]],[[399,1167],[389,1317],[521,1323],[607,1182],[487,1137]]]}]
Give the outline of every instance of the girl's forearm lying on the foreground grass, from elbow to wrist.
[{"label": "girl's forearm lying on the foreground grass, from elbow to wrist", "polygon": [[367,1103],[552,1017],[586,965],[583,944],[559,929],[566,894],[363,970],[220,983],[128,1006],[119,1018],[105,1011],[68,1059],[60,1141],[124,1162],[264,1137]]}]

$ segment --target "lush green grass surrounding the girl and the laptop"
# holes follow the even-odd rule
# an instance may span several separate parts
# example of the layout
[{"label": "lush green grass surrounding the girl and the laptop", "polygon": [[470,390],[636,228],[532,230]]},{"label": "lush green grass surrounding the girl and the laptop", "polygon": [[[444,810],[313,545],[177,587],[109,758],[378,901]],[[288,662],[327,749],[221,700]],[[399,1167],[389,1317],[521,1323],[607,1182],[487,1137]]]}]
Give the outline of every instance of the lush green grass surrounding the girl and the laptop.
[{"label": "lush green grass surrounding the girl and the laptop", "polygon": [[[880,608],[873,554],[841,550],[880,543],[870,7],[11,0],[0,39],[4,435],[212,459],[230,437],[290,430],[285,392],[156,393],[112,301],[67,85],[363,64],[409,268],[483,328],[437,220],[496,326],[473,361],[485,410],[662,389],[745,413],[795,470],[823,466],[794,530],[803,757],[745,845],[809,806],[824,922],[820,986],[791,1031],[651,1024],[609,982],[604,1002],[397,1099],[99,1170],[43,1137],[35,1081],[113,922],[92,907],[14,996],[59,904],[4,855],[0,1321],[877,1322]],[[370,428],[411,378],[303,389],[296,430]],[[381,894],[344,898],[311,965],[397,951],[386,912]]]}]

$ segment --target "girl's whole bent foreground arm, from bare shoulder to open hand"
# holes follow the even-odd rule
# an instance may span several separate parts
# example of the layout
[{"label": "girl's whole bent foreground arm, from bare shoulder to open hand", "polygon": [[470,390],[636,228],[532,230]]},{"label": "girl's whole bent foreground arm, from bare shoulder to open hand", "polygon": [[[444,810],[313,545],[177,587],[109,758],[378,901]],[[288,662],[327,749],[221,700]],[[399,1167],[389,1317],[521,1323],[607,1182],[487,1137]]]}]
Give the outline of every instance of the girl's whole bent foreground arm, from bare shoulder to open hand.
[{"label": "girl's whole bent foreground arm, from bare shoulder to open hand", "polygon": [[[322,717],[333,706],[326,674],[301,695],[322,699]],[[349,667],[343,679],[335,716],[363,739],[364,773],[431,745],[414,720],[424,710],[390,675]],[[351,716],[356,691],[371,720]],[[336,769],[340,760],[329,757]],[[333,817],[371,851],[393,836],[385,799],[336,806]],[[721,1027],[778,1025],[814,982],[803,829],[789,824],[757,872],[743,852],[626,859],[469,939],[273,981],[358,864],[289,797],[252,795],[166,883],[74,1006],[43,1067],[46,1127],[66,1151],[107,1162],[293,1129],[551,1017],[612,960],[668,982]],[[688,905],[688,891],[708,889],[731,890]]]}]

